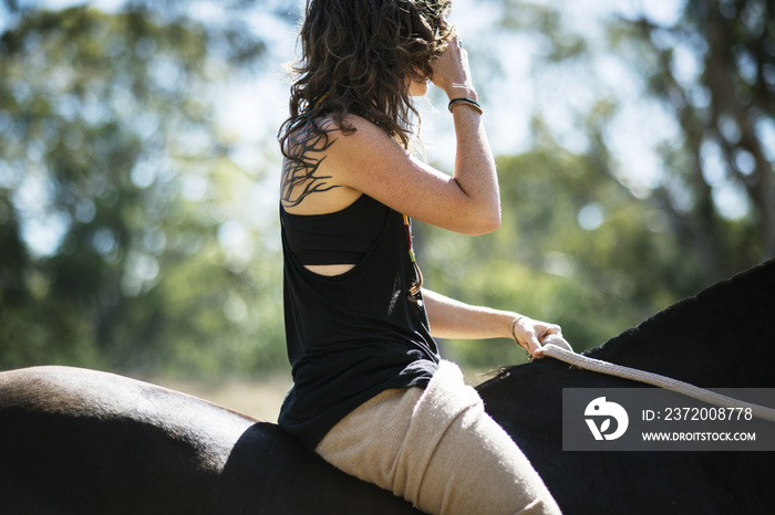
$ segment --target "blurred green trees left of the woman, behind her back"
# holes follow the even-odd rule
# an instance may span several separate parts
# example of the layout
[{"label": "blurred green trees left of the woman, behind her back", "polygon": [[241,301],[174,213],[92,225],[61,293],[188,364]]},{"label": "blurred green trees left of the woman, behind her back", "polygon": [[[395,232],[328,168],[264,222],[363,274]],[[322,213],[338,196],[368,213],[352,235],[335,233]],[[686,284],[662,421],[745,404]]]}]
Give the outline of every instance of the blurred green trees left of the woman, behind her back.
[{"label": "blurred green trees left of the woman, behind her back", "polygon": [[203,24],[174,4],[6,2],[23,15],[0,39],[0,367],[281,359],[277,328],[251,322],[277,315],[277,270],[245,266],[277,251],[240,254],[261,228],[232,207],[260,177],[211,117],[213,88],[264,46],[239,18]]}]

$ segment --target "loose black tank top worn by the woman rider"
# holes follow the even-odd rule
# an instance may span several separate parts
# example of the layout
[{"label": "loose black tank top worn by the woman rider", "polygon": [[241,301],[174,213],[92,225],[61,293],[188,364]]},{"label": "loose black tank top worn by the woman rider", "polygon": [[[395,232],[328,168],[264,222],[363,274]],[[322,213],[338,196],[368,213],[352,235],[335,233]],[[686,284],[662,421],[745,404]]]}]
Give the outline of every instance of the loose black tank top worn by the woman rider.
[{"label": "loose black tank top worn by the woman rider", "polygon": [[[401,213],[364,195],[329,214],[280,208],[280,220],[293,387],[278,422],[314,449],[381,391],[424,388],[437,368],[438,348],[422,302],[409,295],[414,267]],[[303,266],[343,263],[355,266],[337,276]]]}]

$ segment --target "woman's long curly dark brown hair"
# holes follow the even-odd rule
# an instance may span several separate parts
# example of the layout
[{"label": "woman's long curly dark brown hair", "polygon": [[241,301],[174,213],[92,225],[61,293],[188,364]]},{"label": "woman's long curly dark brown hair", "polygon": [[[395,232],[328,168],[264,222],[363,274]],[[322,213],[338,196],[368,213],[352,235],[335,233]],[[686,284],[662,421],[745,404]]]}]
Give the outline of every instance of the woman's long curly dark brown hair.
[{"label": "woman's long curly dark brown hair", "polygon": [[450,0],[308,0],[299,40],[301,60],[291,67],[290,117],[279,138],[292,155],[290,136],[307,126],[328,141],[320,120],[331,116],[343,133],[347,114],[380,126],[409,148],[411,115],[417,115],[411,82],[430,78],[431,63],[447,45]]}]

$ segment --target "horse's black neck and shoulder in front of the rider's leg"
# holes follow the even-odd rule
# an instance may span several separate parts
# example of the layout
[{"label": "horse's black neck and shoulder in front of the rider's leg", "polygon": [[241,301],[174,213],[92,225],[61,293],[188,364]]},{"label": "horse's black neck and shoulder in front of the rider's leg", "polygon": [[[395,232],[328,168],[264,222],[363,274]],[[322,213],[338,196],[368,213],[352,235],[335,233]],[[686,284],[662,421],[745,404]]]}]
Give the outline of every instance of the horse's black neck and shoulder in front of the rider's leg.
[{"label": "horse's black neck and shoulder in front of the rider's leg", "polygon": [[[589,355],[700,387],[775,388],[774,315],[771,261],[674,304]],[[561,451],[562,388],[633,386],[541,359],[507,370],[479,393],[566,513],[772,513],[775,460],[768,452]]]}]

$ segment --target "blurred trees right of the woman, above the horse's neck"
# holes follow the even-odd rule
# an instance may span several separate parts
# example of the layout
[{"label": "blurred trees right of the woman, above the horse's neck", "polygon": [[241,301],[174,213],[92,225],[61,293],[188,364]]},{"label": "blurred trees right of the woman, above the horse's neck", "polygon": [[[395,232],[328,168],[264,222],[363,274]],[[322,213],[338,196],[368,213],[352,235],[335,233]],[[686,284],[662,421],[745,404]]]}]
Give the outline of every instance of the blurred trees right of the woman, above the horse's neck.
[{"label": "blurred trees right of the woman, above the horse's neck", "polygon": [[[502,32],[488,41],[531,53],[530,150],[498,160],[496,233],[469,242],[422,229],[430,287],[556,320],[583,349],[775,255],[775,153],[765,143],[775,138],[773,2],[689,0],[670,27],[619,17],[602,51],[559,2],[492,4]],[[525,33],[535,36],[529,46],[509,39]],[[611,49],[621,57],[617,72],[644,78],[641,98],[624,96],[632,90],[622,74],[608,84],[601,76]],[[638,154],[613,149],[614,120],[628,103],[645,112],[654,101],[678,137],[660,135],[662,175],[644,183],[621,162]],[[447,348],[480,367],[520,354],[510,341]]]}]

